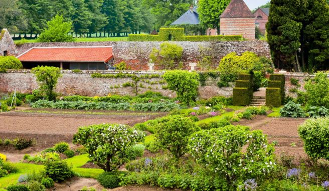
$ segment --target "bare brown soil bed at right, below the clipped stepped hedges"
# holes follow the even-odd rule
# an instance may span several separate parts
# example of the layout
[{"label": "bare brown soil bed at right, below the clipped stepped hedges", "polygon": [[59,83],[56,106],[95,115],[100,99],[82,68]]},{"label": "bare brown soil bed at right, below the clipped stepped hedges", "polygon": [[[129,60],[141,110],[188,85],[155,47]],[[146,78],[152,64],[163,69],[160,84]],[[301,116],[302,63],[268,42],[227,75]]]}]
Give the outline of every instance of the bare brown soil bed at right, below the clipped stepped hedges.
[{"label": "bare brown soil bed at right, below the clipped stepped hedges", "polygon": [[298,158],[306,157],[303,142],[298,136],[298,126],[305,120],[305,118],[274,118],[258,115],[252,120],[242,119],[234,124],[250,126],[253,130],[262,130],[268,135],[269,143],[277,142],[275,145],[277,156],[287,154]]}]

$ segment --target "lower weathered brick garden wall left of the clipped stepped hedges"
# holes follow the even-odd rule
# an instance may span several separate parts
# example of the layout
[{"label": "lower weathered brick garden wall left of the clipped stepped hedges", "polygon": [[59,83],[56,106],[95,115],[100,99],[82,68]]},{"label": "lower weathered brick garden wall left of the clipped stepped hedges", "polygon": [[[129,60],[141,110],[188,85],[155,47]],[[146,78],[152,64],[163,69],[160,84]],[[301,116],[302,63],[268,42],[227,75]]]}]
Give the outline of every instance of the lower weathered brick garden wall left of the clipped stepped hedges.
[{"label": "lower weathered brick garden wall left of the clipped stepped hedges", "polygon": [[[87,95],[87,96],[104,96],[111,94],[120,95],[135,95],[134,87],[122,87],[125,82],[133,82],[129,77],[125,78],[92,78],[91,73],[95,71],[83,71],[82,73],[73,73],[70,70],[63,71],[63,77],[59,78],[56,88],[57,92],[63,93],[63,95]],[[97,71],[99,73],[111,73],[118,72],[110,71]],[[132,73],[132,72],[130,72]],[[134,72],[136,75],[145,74],[159,74],[163,72]],[[140,86],[140,84],[142,84]],[[163,95],[176,96],[175,92],[169,89],[163,89],[166,83],[163,82],[162,77],[150,78],[145,81],[138,82],[138,93],[145,92],[147,90],[158,91]],[[13,92],[15,89],[20,92],[32,92],[37,89],[38,84],[36,78],[30,70],[9,70],[7,73],[0,73],[0,93]],[[206,81],[205,86],[199,87],[200,98],[210,98],[216,95],[231,96],[232,87],[219,88],[216,80],[209,78]]]}]

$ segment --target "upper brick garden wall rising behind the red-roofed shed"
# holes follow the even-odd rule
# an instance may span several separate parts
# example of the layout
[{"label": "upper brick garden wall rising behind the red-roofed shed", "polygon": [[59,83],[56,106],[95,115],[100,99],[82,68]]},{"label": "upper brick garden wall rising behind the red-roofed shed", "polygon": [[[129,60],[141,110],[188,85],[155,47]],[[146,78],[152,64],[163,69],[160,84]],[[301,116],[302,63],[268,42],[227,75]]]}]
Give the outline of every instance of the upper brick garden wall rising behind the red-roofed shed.
[{"label": "upper brick garden wall rising behind the red-roofed shed", "polygon": [[[25,43],[18,46],[17,55],[24,53],[32,47],[38,46],[113,46],[114,63],[125,61],[132,70],[148,70],[147,63],[149,62],[149,54],[153,48],[159,48],[162,42],[158,41],[120,41],[120,42],[38,42]],[[183,67],[191,69],[190,63],[198,62],[201,47],[212,47],[212,53],[215,57],[216,66],[226,54],[237,52],[241,54],[245,51],[253,51],[261,56],[270,58],[270,49],[266,41],[172,41],[184,48],[183,51]],[[154,69],[159,69],[160,66],[155,65]]]}]

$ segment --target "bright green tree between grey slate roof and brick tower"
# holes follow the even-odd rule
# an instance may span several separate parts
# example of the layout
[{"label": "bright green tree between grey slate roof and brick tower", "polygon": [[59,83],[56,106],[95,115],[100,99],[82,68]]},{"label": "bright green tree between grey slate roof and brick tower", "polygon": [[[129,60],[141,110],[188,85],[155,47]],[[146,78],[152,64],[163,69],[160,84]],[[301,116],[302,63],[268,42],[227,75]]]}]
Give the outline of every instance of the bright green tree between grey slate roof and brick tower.
[{"label": "bright green tree between grey slate roof and brick tower", "polygon": [[200,21],[209,28],[219,28],[219,16],[231,0],[199,0]]}]

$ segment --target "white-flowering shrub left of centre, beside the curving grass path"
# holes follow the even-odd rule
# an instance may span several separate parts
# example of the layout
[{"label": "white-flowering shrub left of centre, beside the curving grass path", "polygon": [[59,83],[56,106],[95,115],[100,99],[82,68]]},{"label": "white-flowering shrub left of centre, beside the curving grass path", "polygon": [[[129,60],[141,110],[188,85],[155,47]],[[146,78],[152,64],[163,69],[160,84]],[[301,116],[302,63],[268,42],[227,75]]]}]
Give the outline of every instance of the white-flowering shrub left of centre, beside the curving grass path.
[{"label": "white-flowering shrub left of centre, beside the curving grass path", "polygon": [[73,143],[86,147],[90,159],[105,171],[116,170],[126,160],[126,151],[142,142],[145,133],[124,124],[97,124],[80,127]]}]

